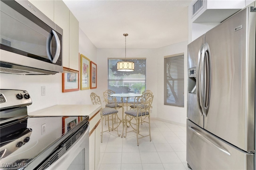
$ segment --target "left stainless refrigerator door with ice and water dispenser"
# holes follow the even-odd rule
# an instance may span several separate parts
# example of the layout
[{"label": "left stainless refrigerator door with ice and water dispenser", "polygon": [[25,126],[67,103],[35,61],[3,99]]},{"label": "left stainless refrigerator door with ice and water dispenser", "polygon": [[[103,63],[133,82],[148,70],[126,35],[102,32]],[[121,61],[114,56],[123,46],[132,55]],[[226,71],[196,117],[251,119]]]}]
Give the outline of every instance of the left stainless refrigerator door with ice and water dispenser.
[{"label": "left stainless refrigerator door with ice and water dispenser", "polygon": [[187,117],[198,126],[203,127],[204,117],[200,109],[198,101],[198,90],[196,88],[197,72],[198,72],[198,58],[202,53],[204,45],[204,35],[200,36],[192,43],[188,44],[188,101],[187,101]]}]

